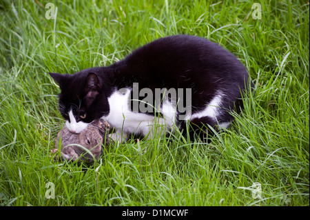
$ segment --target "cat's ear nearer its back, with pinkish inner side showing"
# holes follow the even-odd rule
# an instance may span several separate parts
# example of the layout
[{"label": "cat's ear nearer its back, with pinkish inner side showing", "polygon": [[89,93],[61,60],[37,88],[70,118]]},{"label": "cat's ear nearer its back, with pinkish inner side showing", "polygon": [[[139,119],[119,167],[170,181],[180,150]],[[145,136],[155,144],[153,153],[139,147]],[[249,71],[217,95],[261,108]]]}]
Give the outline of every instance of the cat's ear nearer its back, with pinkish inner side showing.
[{"label": "cat's ear nearer its back, with pinkish inner side showing", "polygon": [[86,83],[85,83],[85,100],[87,106],[90,106],[94,99],[96,99],[100,90],[100,81],[97,75],[94,72],[90,72],[87,75]]}]

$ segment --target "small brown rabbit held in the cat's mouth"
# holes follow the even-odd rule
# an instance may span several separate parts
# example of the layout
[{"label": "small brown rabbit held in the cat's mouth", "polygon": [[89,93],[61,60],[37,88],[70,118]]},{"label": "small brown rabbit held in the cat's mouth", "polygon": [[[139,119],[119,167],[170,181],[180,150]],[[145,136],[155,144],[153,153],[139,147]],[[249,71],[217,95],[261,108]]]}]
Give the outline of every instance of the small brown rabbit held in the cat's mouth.
[{"label": "small brown rabbit held in the cat's mouth", "polygon": [[[61,139],[61,157],[56,154],[54,161],[76,161],[81,159],[82,161],[93,162],[94,158],[99,159],[102,145],[107,145],[110,142],[108,135],[105,134],[108,133],[109,128],[110,125],[103,119],[94,120],[79,134],[72,133],[66,126],[63,126],[63,129],[56,137],[55,149],[52,150],[52,153],[59,150],[59,140]],[[78,145],[74,145],[74,143]],[[90,150],[94,157],[81,146]]]}]

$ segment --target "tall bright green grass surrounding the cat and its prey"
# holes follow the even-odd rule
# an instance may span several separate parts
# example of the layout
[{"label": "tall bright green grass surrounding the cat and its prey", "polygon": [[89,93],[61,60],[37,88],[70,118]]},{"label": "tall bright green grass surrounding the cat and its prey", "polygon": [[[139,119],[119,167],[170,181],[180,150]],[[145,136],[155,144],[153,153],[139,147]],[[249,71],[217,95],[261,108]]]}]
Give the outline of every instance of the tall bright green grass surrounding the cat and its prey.
[{"label": "tall bright green grass surrounding the cat and its prey", "polygon": [[[309,206],[309,3],[260,1],[0,3],[2,206]],[[145,43],[193,34],[227,48],[255,92],[210,144],[176,134],[106,147],[90,167],[54,163],[63,126],[48,72],[107,66]],[[47,199],[45,184],[55,186]],[[252,197],[260,183],[260,198]]]}]

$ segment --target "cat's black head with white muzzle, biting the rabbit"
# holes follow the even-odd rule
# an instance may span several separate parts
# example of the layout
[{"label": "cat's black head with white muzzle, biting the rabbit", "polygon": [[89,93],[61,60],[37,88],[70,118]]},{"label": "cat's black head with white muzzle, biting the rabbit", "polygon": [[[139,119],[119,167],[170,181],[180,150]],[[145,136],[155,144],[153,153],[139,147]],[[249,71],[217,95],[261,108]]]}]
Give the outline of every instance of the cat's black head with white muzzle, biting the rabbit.
[{"label": "cat's black head with white muzzle, biting the rabbit", "polygon": [[109,112],[103,82],[96,73],[85,70],[75,74],[50,72],[50,76],[61,88],[59,110],[71,132],[82,132],[89,123]]}]

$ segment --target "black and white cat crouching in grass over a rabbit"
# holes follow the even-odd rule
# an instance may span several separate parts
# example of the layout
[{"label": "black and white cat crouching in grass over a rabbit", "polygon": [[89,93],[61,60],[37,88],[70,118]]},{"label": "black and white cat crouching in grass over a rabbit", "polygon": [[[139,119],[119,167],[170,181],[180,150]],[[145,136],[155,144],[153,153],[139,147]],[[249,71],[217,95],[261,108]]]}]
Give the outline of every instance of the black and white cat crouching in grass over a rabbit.
[{"label": "black and white cat crouching in grass over a rabbit", "polygon": [[189,130],[190,137],[203,137],[209,126],[227,128],[249,85],[233,54],[189,35],[157,39],[108,67],[50,75],[61,88],[59,110],[69,130],[79,133],[103,118],[123,139],[152,137],[158,124]]}]

